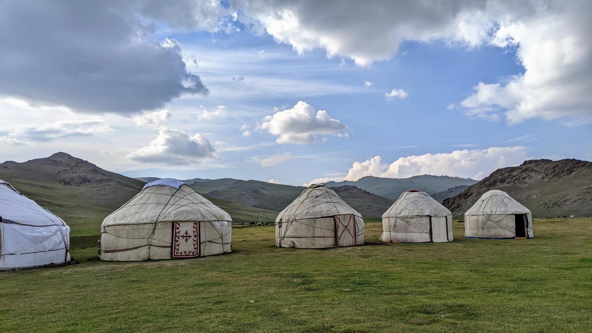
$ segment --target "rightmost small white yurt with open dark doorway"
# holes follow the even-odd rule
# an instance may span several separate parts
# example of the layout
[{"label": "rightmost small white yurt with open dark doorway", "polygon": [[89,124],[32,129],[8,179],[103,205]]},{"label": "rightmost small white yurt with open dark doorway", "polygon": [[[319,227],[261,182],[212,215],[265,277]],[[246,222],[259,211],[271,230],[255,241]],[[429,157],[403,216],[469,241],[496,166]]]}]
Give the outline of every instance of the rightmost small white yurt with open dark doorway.
[{"label": "rightmost small white yurt with open dark doorway", "polygon": [[532,238],[530,210],[506,192],[483,194],[465,213],[467,238]]}]

